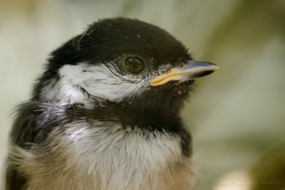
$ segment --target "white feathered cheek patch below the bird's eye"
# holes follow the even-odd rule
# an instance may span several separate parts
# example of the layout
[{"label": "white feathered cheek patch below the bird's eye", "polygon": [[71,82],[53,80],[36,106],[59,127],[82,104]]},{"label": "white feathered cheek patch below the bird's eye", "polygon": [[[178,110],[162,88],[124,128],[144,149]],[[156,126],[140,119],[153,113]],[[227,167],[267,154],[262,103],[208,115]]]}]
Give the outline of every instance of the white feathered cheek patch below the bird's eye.
[{"label": "white feathered cheek patch below the bird's eye", "polygon": [[122,75],[111,63],[64,65],[58,73],[60,79],[57,82],[51,80],[41,91],[43,100],[84,103],[88,102],[86,90],[94,97],[119,102],[150,88],[149,78]]}]

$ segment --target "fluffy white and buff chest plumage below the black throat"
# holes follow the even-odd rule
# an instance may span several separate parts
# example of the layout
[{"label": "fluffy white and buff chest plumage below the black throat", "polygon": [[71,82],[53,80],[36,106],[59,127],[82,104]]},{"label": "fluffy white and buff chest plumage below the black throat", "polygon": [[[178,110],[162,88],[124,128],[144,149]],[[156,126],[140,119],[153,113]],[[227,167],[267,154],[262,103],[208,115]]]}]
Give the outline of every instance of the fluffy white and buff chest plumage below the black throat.
[{"label": "fluffy white and buff chest plumage below the black throat", "polygon": [[77,122],[53,130],[49,138],[51,144],[15,153],[27,161],[21,162],[22,172],[33,176],[28,190],[190,189],[190,161],[182,156],[180,138],[173,134]]}]

